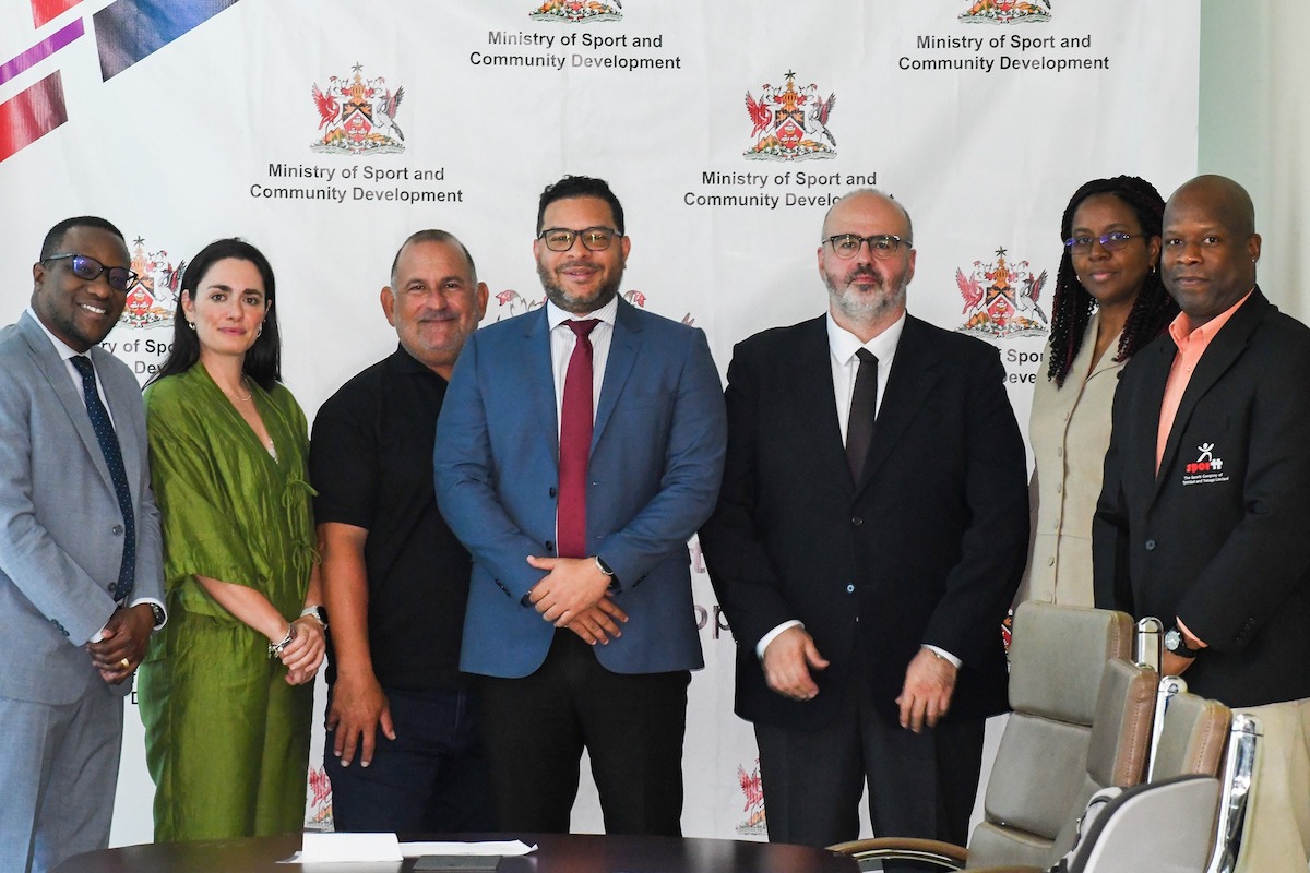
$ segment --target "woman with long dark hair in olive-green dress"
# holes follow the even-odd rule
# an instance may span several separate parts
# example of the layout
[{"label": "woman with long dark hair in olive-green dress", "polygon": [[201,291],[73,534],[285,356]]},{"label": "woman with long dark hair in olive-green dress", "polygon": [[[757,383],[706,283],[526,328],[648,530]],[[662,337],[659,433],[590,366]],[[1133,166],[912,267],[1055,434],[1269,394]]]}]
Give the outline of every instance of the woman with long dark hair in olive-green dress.
[{"label": "woman with long dark hair in olive-green dress", "polygon": [[219,240],[187,266],[145,389],[168,624],[139,675],[155,839],[300,831],[322,597],[304,412],[280,383],[269,260]]}]

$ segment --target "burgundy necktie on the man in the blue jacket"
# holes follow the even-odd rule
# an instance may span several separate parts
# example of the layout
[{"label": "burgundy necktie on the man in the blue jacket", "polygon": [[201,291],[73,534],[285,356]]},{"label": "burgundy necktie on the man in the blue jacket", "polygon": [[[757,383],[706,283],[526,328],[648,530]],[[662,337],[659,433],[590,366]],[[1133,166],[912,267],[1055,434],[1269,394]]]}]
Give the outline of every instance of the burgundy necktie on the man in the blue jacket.
[{"label": "burgundy necktie on the man in the blue jacket", "polygon": [[566,321],[576,336],[565,401],[559,412],[559,505],[555,510],[555,538],[561,558],[587,556],[587,458],[591,454],[592,366],[591,330],[600,322]]}]

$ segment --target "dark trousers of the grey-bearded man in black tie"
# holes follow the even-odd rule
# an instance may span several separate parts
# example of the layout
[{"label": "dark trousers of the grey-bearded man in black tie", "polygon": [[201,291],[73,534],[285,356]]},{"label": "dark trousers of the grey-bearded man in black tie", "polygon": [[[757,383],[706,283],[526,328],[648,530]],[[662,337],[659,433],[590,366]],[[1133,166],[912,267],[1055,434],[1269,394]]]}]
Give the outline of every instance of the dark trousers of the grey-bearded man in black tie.
[{"label": "dark trousers of the grey-bearded man in black tie", "polygon": [[947,719],[916,734],[875,711],[857,687],[845,691],[837,716],[817,730],[757,724],[769,840],[821,847],[858,839],[859,797],[867,783],[875,836],[964,846],[984,725],[982,719]]}]

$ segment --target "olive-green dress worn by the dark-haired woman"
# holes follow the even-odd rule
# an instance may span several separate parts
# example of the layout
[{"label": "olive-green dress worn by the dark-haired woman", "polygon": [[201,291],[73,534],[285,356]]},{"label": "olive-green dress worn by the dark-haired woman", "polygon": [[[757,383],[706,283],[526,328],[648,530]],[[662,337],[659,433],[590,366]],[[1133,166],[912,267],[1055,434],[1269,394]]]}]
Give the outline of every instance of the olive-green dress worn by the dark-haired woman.
[{"label": "olive-green dress worn by the dark-haired woman", "polygon": [[138,677],[157,842],[304,826],[313,683],[290,686],[269,640],[195,580],[261,592],[300,615],[314,555],[305,415],[253,382],[276,457],[203,365],[145,391],[169,620]]}]

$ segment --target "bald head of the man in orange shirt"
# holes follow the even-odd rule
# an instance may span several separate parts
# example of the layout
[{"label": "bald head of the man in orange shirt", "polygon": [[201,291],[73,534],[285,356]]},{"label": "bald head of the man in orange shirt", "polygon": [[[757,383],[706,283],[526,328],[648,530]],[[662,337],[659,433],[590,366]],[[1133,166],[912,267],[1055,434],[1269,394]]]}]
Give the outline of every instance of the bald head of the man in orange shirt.
[{"label": "bald head of the man in orange shirt", "polygon": [[1260,236],[1241,185],[1199,175],[1165,204],[1161,274],[1192,329],[1231,309],[1255,288]]}]

